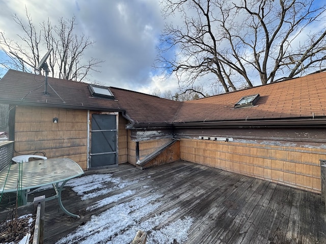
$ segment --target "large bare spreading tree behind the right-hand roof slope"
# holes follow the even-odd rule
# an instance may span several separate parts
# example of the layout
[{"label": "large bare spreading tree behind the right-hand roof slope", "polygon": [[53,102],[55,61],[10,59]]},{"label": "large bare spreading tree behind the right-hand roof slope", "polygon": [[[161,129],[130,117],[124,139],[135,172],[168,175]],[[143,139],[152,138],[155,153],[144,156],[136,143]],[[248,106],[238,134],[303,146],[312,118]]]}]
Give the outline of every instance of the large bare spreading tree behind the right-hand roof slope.
[{"label": "large bare spreading tree behind the right-hand roof slope", "polygon": [[[325,4],[313,0],[162,0],[179,17],[157,62],[185,86],[207,75],[225,92],[326,70]],[[171,55],[175,52],[175,55]],[[243,84],[243,82],[245,84]]]}]

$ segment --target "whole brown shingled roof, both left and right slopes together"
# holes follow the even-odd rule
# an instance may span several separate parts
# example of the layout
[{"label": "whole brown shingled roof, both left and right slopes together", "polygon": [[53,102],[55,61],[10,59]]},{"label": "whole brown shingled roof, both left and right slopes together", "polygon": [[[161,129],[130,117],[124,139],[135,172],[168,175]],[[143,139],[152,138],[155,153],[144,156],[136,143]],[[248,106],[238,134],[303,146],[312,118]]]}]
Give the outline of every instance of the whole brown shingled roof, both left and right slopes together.
[{"label": "whole brown shingled roof, both left and right slopes together", "polygon": [[[326,72],[252,87],[194,101],[176,102],[110,87],[115,100],[93,98],[87,83],[9,70],[0,80],[0,103],[125,112],[134,124],[183,124],[208,121],[323,118]],[[57,94],[56,94],[57,93]],[[234,108],[241,97],[259,94],[253,107]]]}]

